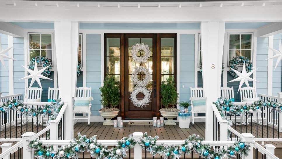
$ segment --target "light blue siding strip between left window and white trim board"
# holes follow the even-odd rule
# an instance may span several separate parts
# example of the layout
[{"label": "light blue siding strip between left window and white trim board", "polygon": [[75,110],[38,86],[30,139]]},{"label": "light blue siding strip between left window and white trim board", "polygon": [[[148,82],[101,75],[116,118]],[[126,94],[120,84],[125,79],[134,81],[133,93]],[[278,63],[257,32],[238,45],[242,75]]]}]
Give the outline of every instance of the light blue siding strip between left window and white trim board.
[{"label": "light blue siding strip between left window and white trim board", "polygon": [[13,38],[13,56],[16,59],[14,61],[14,94],[25,93],[25,80],[19,80],[25,77],[25,50],[24,50],[24,38]]}]

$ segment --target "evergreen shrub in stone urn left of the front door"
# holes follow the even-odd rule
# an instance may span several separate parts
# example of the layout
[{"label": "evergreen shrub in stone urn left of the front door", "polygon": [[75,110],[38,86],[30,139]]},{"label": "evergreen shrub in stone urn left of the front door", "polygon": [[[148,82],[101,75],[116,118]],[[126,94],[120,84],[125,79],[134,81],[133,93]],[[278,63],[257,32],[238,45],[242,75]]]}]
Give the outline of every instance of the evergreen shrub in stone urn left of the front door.
[{"label": "evergreen shrub in stone urn left of the front door", "polygon": [[116,84],[114,76],[105,77],[103,83],[104,85],[99,88],[101,91],[100,102],[103,108],[98,112],[103,118],[106,118],[103,125],[114,125],[112,118],[116,117],[119,113],[119,109],[116,108],[120,100],[119,86]]}]

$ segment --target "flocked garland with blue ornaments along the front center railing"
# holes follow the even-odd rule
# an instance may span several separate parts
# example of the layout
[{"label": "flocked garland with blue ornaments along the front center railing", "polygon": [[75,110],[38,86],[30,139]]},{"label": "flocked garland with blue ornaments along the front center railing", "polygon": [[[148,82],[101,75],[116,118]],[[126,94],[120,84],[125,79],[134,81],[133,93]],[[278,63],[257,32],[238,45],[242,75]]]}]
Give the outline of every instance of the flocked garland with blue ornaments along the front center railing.
[{"label": "flocked garland with blue ornaments along the front center railing", "polygon": [[248,152],[250,151],[250,145],[243,142],[241,139],[236,140],[232,146],[228,146],[226,149],[220,148],[213,150],[210,145],[202,144],[203,138],[196,134],[185,139],[185,143],[181,146],[165,144],[156,145],[156,141],[159,137],[148,136],[147,132],[145,132],[145,137],[141,138],[140,142],[137,142],[133,135],[130,134],[128,137],[123,137],[122,140],[117,140],[118,146],[111,149],[108,149],[108,146],[102,146],[102,144],[98,143],[96,135],[88,139],[86,138],[86,135],[78,133],[78,137],[79,140],[73,139],[69,145],[58,148],[58,152],[54,151],[53,146],[47,145],[44,149],[42,142],[39,139],[29,141],[28,148],[31,151],[36,151],[34,156],[39,159],[77,159],[79,158],[78,154],[83,153],[84,151],[89,152],[91,157],[97,159],[122,159],[123,157],[126,157],[126,152],[130,148],[134,148],[136,144],[139,144],[142,149],[146,148],[146,151],[150,154],[154,156],[158,154],[165,159],[168,157],[179,159],[181,155],[189,155],[192,151],[206,159],[231,159],[235,157],[235,154],[243,156],[248,155]]}]

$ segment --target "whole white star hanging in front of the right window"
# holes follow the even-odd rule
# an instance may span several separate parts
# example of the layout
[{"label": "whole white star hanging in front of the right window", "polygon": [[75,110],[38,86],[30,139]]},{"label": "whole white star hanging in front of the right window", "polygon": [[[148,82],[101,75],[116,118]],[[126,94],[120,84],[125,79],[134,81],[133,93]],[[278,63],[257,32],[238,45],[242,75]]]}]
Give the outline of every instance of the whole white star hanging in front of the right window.
[{"label": "whole white star hanging in front of the right window", "polygon": [[[231,69],[232,69],[239,77],[237,77],[237,78],[235,78],[234,80],[231,80],[231,81],[229,81],[229,82],[240,81],[240,85],[239,85],[238,92],[239,92],[239,90],[241,89],[241,87],[242,87],[242,85],[243,85],[244,83],[246,83],[247,87],[250,87],[248,81],[257,81],[257,80],[254,80],[254,79],[252,79],[252,78],[249,77],[249,76],[250,76],[253,72],[255,72],[255,70],[257,70],[257,69],[252,70],[251,72],[248,72],[248,73],[247,73],[247,72],[246,72],[246,67],[245,67],[245,62],[244,62],[244,64],[243,64],[242,73],[239,72],[239,71],[237,71],[237,70],[234,70],[233,68],[231,68]],[[257,81],[257,82],[258,82],[258,81]],[[238,93],[238,92],[237,92],[237,93]]]}]

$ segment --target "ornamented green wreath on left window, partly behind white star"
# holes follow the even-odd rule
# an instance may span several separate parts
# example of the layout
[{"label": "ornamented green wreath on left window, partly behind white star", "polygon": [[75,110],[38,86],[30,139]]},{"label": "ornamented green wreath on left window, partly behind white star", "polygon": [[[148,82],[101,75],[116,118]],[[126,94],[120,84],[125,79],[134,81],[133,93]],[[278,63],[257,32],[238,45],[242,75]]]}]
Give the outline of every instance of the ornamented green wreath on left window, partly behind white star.
[{"label": "ornamented green wreath on left window, partly behind white star", "polygon": [[[48,65],[52,65],[52,60],[45,56],[36,56],[29,61],[28,68],[34,70],[35,63],[42,65],[42,67],[45,68]],[[41,75],[49,77],[51,75],[51,68],[51,66],[48,66],[48,68],[44,70]]]}]

